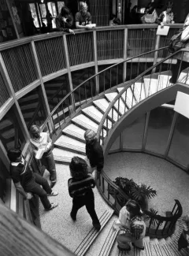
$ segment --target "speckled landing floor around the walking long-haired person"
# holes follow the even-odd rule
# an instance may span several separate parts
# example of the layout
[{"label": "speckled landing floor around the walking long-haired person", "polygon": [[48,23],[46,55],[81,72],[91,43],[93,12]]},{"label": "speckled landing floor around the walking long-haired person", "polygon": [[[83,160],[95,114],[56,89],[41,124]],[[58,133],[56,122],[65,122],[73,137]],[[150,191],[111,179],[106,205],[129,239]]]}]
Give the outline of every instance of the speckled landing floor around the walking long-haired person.
[{"label": "speckled landing floor around the walking long-haired person", "polygon": [[[59,205],[54,210],[45,211],[40,203],[40,221],[44,232],[74,251],[93,228],[92,221],[85,207],[78,211],[77,220],[75,222],[72,221],[69,216],[72,209],[72,198],[69,196],[68,191],[69,165],[56,165],[56,168],[57,184],[54,186],[54,191],[58,191],[59,195],[49,197],[49,199],[50,202],[58,202]],[[47,171],[44,176],[49,179]],[[101,217],[105,210],[112,211],[99,195],[96,187],[93,191],[95,193],[95,210],[98,217]]]}]

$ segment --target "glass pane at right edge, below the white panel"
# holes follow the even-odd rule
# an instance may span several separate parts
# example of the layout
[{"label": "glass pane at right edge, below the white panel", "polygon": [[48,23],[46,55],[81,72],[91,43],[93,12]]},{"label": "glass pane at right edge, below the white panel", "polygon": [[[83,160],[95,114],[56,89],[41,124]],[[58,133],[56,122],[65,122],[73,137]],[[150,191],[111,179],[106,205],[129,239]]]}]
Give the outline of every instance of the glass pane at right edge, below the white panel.
[{"label": "glass pane at right edge, below the white panel", "polygon": [[172,136],[169,158],[187,167],[189,165],[189,119],[179,115]]}]

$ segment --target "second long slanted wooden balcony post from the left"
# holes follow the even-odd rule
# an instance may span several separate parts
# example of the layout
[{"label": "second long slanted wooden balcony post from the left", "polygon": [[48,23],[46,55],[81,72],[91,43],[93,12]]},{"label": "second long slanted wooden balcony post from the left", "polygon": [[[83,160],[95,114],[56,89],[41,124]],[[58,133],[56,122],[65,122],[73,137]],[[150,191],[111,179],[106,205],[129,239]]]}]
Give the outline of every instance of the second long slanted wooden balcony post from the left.
[{"label": "second long slanted wooden balcony post from the left", "polygon": [[[36,52],[36,49],[35,49],[35,43],[34,41],[31,41],[31,53],[32,53],[32,57],[33,57],[33,61],[35,62],[35,71],[37,72],[37,76],[39,78],[39,81],[40,81],[40,87],[42,89],[42,101],[43,101],[43,106],[44,106],[44,110],[45,110],[45,113],[46,113],[46,117],[48,117],[50,115],[50,106],[49,106],[49,103],[48,103],[48,99],[46,97],[46,91],[45,91],[45,86],[44,86],[44,83],[43,83],[43,77],[42,77],[42,73],[41,73],[41,69],[40,69],[40,66],[39,66],[39,60],[38,60],[38,56],[37,56],[37,52]],[[50,129],[53,131],[53,121],[51,121],[52,123],[50,124]]]}]

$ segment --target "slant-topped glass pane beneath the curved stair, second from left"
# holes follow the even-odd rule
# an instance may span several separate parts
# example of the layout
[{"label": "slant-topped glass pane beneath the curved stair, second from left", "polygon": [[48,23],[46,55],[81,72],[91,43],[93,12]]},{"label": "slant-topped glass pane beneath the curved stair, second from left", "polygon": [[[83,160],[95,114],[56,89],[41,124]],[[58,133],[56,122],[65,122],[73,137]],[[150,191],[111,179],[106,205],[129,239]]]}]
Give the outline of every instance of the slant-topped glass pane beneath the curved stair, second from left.
[{"label": "slant-topped glass pane beneath the curved stair, second from left", "polygon": [[124,149],[141,149],[143,133],[146,121],[146,114],[139,117],[123,131]]}]

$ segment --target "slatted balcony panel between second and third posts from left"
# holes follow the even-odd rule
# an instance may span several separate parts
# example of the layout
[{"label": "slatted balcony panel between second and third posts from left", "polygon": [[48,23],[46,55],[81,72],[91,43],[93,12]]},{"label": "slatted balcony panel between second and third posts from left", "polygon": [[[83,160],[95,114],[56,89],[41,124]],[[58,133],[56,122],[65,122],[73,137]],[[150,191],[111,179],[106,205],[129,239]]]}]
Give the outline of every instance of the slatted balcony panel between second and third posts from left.
[{"label": "slatted balcony panel between second and third posts from left", "polygon": [[42,76],[65,69],[62,37],[35,42]]}]

